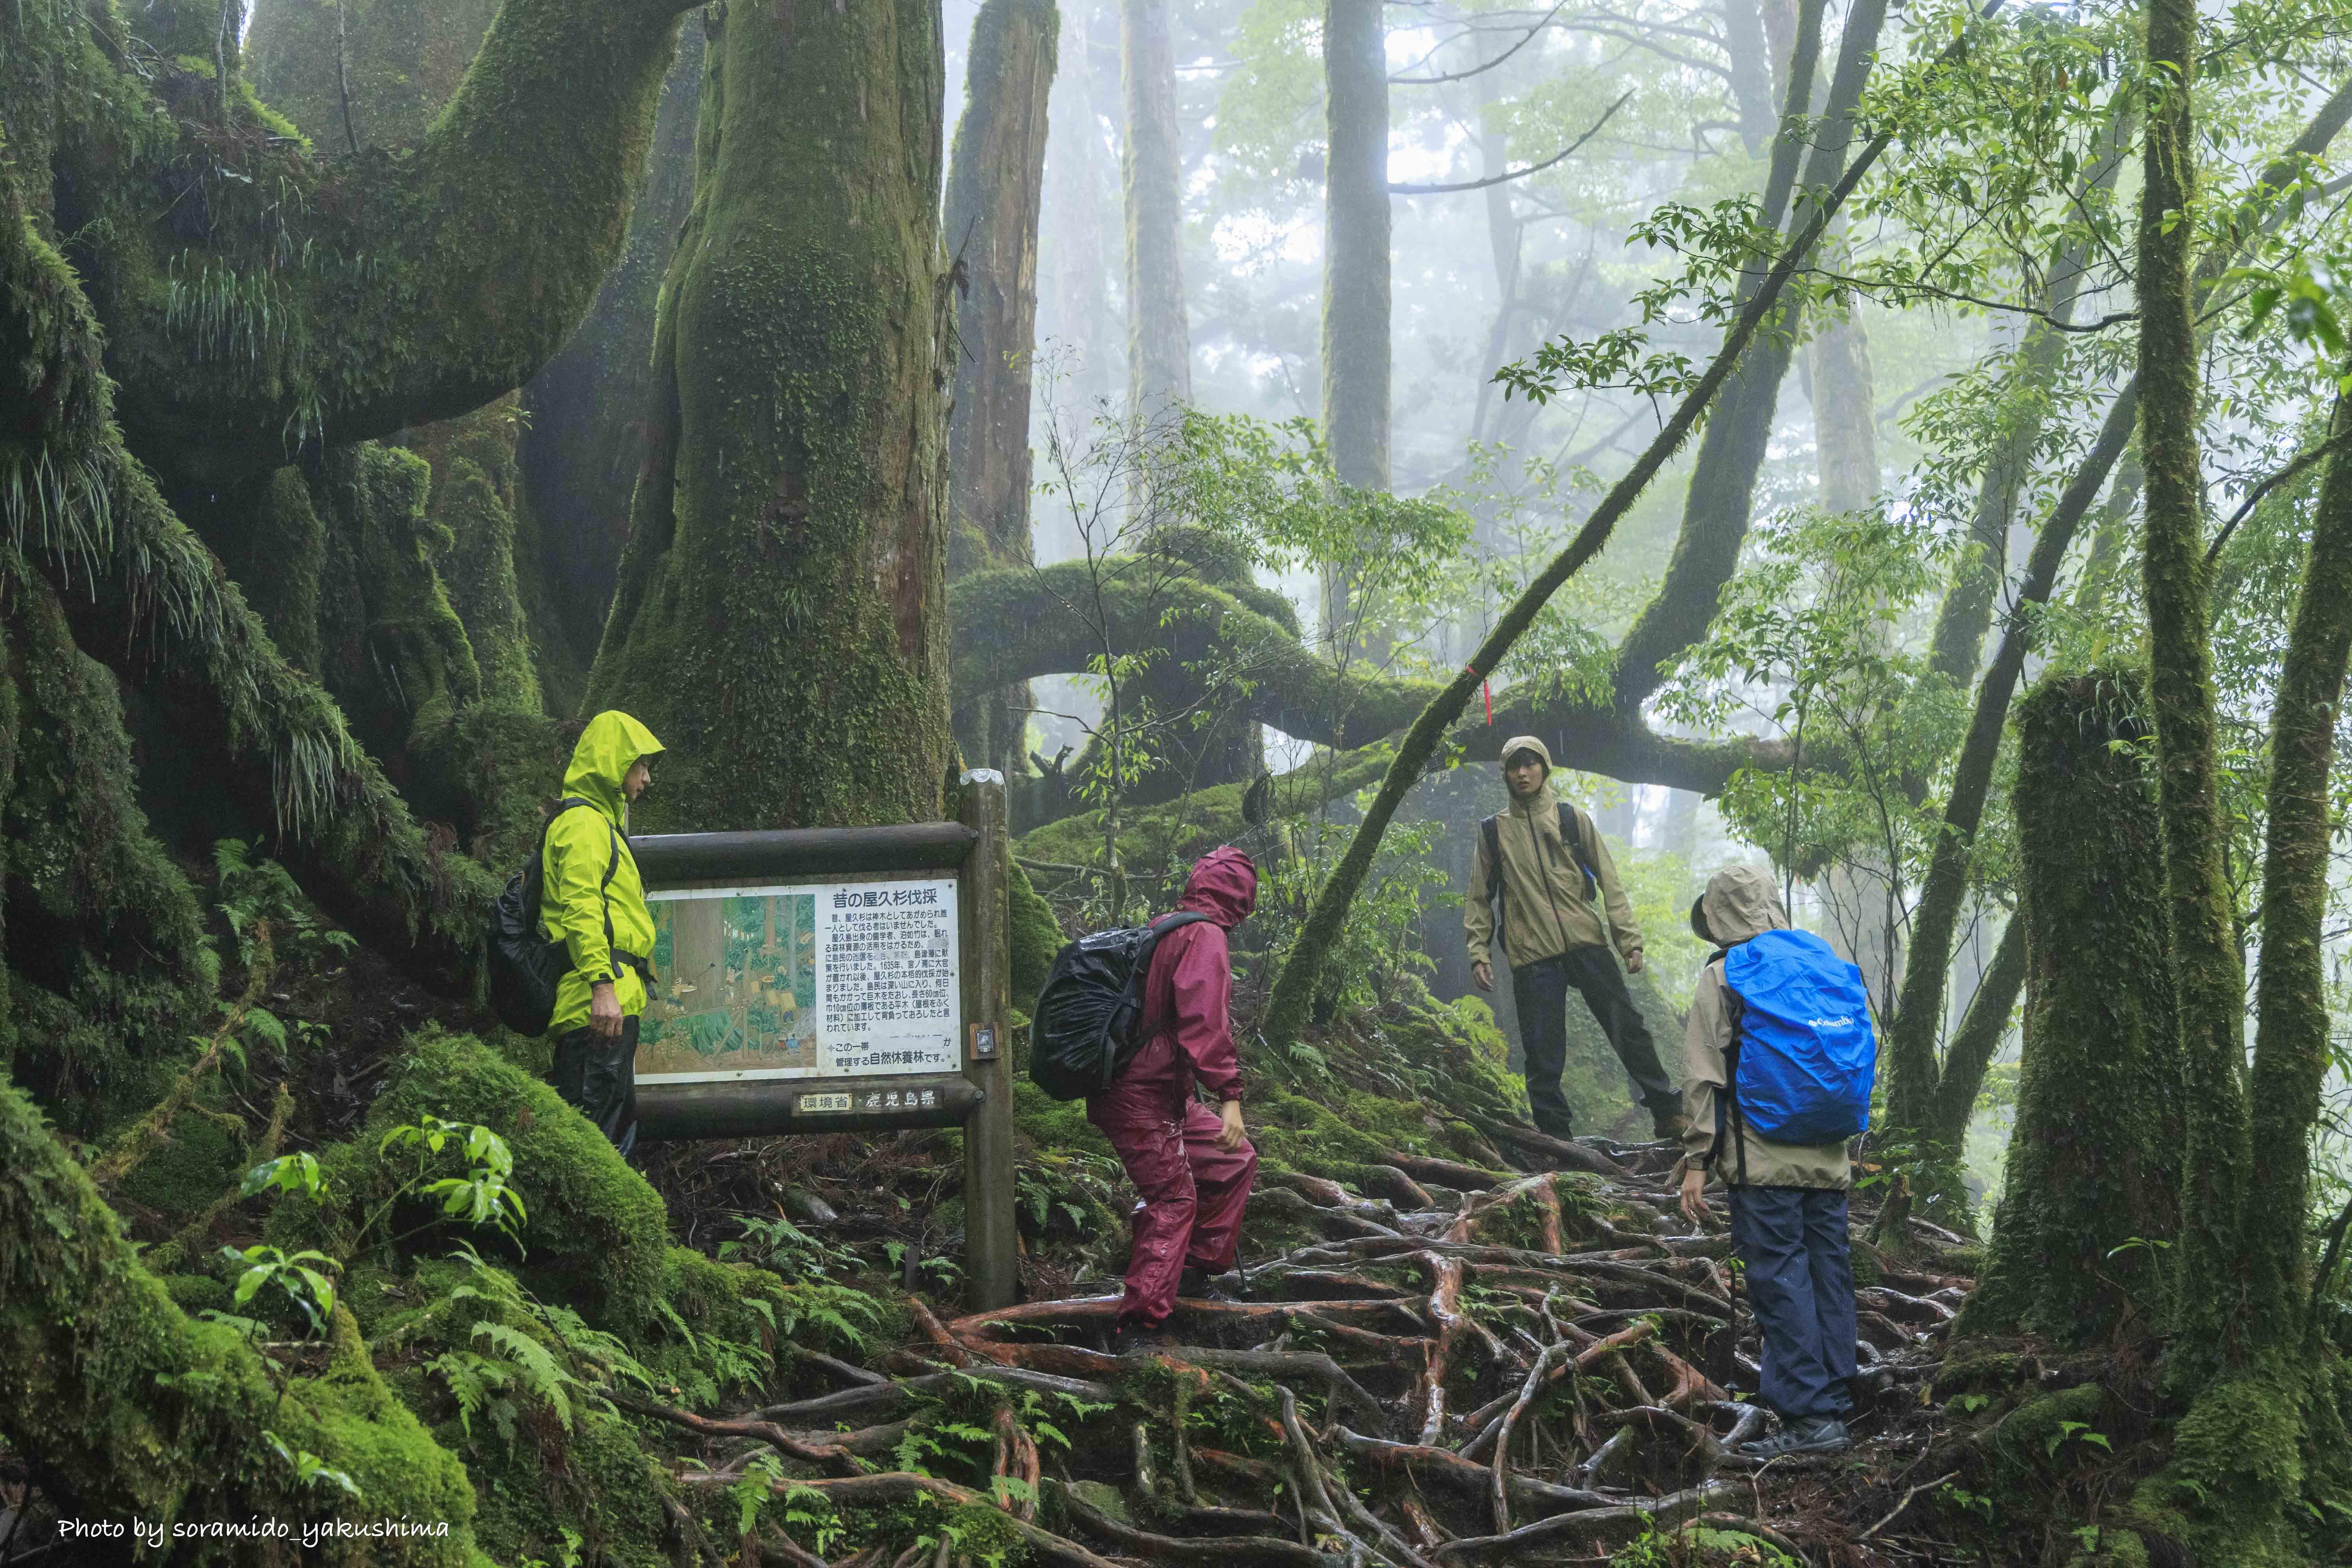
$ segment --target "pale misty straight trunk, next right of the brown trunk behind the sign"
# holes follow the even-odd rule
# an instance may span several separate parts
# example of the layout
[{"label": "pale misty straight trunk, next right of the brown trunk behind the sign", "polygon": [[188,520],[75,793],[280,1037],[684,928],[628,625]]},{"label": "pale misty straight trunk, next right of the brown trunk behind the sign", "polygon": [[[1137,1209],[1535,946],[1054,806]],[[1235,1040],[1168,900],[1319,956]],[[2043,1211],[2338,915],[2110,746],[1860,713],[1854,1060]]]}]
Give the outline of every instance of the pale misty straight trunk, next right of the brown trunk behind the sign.
[{"label": "pale misty straight trunk, next right of the brown trunk behind the sign", "polygon": [[1127,414],[1192,402],[1192,331],[1183,306],[1183,129],[1169,0],[1120,0],[1127,139]]}]

